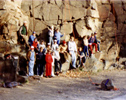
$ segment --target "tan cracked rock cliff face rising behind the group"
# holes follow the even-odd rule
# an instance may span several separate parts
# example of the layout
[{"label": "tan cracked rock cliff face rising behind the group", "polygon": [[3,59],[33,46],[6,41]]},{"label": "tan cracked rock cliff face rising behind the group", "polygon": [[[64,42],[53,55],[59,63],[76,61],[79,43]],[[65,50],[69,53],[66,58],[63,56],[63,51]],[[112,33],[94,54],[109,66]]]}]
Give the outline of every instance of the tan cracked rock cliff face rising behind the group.
[{"label": "tan cracked rock cliff face rising behind the group", "polygon": [[[110,66],[108,61],[126,56],[125,0],[0,0],[0,25],[7,24],[7,36],[14,43],[24,20],[28,22],[29,35],[35,30],[39,39],[46,38],[49,25],[66,33],[62,40],[68,41],[74,33],[78,45],[84,35],[97,32],[102,51],[95,54],[97,66]],[[107,63],[104,65],[101,59]]]}]

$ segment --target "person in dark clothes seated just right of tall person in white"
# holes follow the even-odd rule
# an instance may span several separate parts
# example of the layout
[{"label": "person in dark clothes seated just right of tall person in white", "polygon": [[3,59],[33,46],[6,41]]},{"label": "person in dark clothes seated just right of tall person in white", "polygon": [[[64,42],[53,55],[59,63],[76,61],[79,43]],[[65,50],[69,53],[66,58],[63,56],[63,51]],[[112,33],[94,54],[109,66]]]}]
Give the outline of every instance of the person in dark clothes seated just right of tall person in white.
[{"label": "person in dark clothes seated just right of tall person in white", "polygon": [[78,59],[79,59],[79,65],[78,65],[78,67],[80,67],[81,64],[83,64],[83,66],[84,66],[85,65],[85,54],[82,51],[81,47],[78,50]]}]

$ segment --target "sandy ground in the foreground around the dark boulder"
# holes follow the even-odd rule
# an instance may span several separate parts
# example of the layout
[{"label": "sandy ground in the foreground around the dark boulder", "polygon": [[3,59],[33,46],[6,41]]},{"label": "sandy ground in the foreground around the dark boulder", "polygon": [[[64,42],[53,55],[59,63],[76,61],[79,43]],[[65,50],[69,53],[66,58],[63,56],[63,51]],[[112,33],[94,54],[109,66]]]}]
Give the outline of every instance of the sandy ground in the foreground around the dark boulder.
[{"label": "sandy ground in the foreground around the dark boulder", "polygon": [[42,78],[13,89],[0,88],[0,100],[126,100],[126,71],[102,71],[92,75],[94,82],[112,79],[118,91],[103,91],[88,77]]}]

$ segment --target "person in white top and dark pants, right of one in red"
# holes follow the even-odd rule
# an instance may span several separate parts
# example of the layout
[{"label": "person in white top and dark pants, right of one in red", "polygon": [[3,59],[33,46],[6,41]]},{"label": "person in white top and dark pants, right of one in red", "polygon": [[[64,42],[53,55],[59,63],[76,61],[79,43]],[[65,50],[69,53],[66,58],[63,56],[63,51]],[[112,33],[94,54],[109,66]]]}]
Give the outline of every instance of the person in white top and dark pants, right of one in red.
[{"label": "person in white top and dark pants, right of one in red", "polygon": [[58,72],[58,64],[60,65],[60,72],[61,72],[61,68],[62,68],[62,63],[60,61],[60,55],[59,55],[59,48],[56,48],[55,52],[55,72],[56,75],[59,74]]}]

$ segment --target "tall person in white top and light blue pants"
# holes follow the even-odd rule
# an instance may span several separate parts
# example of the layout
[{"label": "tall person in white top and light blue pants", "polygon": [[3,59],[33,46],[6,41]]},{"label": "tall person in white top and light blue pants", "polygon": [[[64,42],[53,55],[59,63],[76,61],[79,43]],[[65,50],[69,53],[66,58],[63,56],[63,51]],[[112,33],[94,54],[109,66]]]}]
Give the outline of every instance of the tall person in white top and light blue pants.
[{"label": "tall person in white top and light blue pants", "polygon": [[72,67],[76,68],[76,53],[77,53],[77,46],[74,41],[74,37],[71,36],[70,41],[68,42],[68,50],[72,57]]}]

